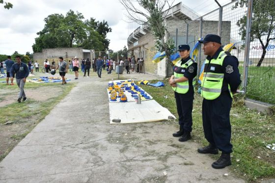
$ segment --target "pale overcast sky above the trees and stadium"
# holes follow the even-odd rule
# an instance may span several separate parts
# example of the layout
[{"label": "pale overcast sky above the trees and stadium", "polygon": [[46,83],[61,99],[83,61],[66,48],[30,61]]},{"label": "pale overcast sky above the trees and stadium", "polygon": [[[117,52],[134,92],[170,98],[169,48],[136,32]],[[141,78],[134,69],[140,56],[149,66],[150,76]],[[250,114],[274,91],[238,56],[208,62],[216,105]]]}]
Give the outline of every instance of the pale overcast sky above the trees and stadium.
[{"label": "pale overcast sky above the trees and stadium", "polygon": [[[107,36],[110,49],[117,51],[127,46],[129,34],[137,28],[127,23],[127,13],[118,0],[4,0],[13,4],[12,9],[4,9],[0,4],[0,54],[12,54],[17,51],[25,54],[32,52],[31,46],[36,32],[43,29],[50,14],[65,15],[70,9],[79,11],[85,19],[90,17],[97,21],[107,21],[112,28]],[[182,1],[199,15],[218,8],[214,0],[175,0]],[[231,0],[218,0],[224,5]]]}]

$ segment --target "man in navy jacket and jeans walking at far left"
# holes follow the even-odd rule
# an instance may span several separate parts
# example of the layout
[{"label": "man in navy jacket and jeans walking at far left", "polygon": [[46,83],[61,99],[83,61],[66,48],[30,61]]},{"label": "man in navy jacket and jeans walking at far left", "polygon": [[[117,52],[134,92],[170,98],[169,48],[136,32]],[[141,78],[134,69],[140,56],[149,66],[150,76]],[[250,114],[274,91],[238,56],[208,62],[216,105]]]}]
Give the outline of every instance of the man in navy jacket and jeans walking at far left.
[{"label": "man in navy jacket and jeans walking at far left", "polygon": [[[16,83],[17,83],[18,87],[20,88],[17,101],[18,101],[18,103],[21,103],[22,97],[23,97],[24,102],[27,100],[27,97],[26,97],[26,94],[24,91],[24,86],[25,86],[26,79],[27,79],[29,72],[28,72],[27,64],[21,62],[20,56],[17,55],[15,58],[16,58],[16,63],[12,65],[12,67],[10,69],[10,73],[15,72]],[[11,79],[13,79],[13,77]]]}]

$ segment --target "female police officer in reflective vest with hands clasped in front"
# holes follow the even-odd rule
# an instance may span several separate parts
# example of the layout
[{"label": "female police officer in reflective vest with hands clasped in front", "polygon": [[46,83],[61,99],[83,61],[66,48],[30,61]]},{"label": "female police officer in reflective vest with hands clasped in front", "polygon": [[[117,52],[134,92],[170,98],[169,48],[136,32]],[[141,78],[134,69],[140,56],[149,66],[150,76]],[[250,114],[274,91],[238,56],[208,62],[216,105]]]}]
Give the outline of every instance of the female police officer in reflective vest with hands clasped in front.
[{"label": "female police officer in reflective vest with hands clasped in front", "polygon": [[172,86],[179,115],[180,130],[173,133],[174,137],[180,137],[179,141],[185,142],[191,139],[192,108],[194,99],[194,85],[197,73],[197,63],[190,58],[189,45],[180,45],[179,60],[173,67],[174,75],[169,84]]}]

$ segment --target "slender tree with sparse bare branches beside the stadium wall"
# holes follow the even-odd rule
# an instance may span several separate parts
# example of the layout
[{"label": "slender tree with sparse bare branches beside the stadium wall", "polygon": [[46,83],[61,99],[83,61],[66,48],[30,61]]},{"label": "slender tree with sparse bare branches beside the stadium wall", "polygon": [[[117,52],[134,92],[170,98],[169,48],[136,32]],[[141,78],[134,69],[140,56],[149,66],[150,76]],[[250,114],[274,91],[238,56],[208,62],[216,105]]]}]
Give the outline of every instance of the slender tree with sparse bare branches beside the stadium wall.
[{"label": "slender tree with sparse bare branches beside the stadium wall", "polygon": [[[166,77],[168,77],[168,69],[171,70],[173,64],[170,61],[170,55],[174,53],[175,45],[172,39],[165,39],[166,14],[164,8],[169,9],[174,0],[119,0],[126,8],[128,18],[140,25],[147,25],[151,28],[152,34],[156,38],[156,49],[159,52],[165,52],[168,59],[166,65]],[[137,4],[135,4],[135,2]],[[141,8],[139,8],[141,7]],[[168,65],[170,67],[168,67]]]}]

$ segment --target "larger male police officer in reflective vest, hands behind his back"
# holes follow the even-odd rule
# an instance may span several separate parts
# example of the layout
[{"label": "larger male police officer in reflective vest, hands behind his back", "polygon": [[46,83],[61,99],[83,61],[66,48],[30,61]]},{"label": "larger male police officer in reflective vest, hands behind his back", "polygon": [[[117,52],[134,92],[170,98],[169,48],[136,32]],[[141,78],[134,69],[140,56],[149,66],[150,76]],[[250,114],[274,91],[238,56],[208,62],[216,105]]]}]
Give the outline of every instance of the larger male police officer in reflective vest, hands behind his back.
[{"label": "larger male police officer in reflective vest, hands behind his back", "polygon": [[204,136],[209,145],[197,151],[203,154],[218,154],[220,158],[212,163],[213,168],[231,165],[232,152],[231,125],[229,112],[232,96],[241,83],[239,61],[220,47],[220,36],[208,34],[202,41],[206,57],[204,75],[201,82],[202,122]]}]

